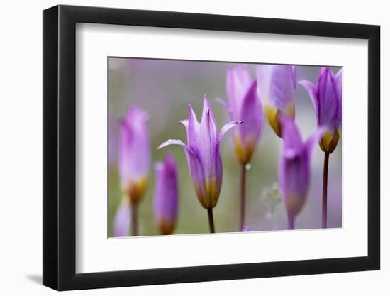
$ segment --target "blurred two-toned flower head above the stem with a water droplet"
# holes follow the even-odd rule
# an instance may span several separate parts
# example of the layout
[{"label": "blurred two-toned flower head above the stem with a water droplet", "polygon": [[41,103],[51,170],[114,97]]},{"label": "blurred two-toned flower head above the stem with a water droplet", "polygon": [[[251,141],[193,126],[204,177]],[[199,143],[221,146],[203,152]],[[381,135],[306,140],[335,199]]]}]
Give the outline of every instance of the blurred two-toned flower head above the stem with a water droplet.
[{"label": "blurred two-toned flower head above the stem with a water droplet", "polygon": [[220,102],[228,110],[230,120],[244,121],[233,131],[233,143],[235,155],[245,165],[252,158],[264,122],[257,82],[252,80],[247,67],[235,66],[228,69],[226,93],[228,102]]}]

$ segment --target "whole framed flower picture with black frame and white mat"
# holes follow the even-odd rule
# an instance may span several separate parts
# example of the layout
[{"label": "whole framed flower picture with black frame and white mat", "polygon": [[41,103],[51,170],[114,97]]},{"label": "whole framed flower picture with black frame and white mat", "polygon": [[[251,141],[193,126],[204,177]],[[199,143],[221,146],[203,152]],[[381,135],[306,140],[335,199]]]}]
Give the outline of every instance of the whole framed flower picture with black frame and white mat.
[{"label": "whole framed flower picture with black frame and white mat", "polygon": [[43,11],[43,284],[376,270],[379,26]]}]

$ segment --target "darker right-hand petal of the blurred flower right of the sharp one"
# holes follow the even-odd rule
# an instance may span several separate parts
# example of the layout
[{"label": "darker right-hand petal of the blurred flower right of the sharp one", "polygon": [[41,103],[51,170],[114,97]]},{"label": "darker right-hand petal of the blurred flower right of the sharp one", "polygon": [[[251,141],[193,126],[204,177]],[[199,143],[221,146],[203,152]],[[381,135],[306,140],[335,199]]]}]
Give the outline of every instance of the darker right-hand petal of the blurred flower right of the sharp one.
[{"label": "darker right-hand petal of the blurred flower right of the sharp one", "polygon": [[[257,82],[254,80],[247,90],[241,107],[240,119],[243,124],[238,127],[240,138],[245,145],[256,146],[264,123],[262,103],[257,92]],[[247,143],[253,141],[254,143]]]}]

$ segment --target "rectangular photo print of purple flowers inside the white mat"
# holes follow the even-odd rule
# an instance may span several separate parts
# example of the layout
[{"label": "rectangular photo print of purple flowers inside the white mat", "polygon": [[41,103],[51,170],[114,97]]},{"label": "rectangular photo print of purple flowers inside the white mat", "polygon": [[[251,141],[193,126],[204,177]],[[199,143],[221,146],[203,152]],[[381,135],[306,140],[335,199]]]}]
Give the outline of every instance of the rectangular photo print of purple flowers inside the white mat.
[{"label": "rectangular photo print of purple flowers inside the white mat", "polygon": [[342,67],[108,57],[108,237],[342,227]]}]

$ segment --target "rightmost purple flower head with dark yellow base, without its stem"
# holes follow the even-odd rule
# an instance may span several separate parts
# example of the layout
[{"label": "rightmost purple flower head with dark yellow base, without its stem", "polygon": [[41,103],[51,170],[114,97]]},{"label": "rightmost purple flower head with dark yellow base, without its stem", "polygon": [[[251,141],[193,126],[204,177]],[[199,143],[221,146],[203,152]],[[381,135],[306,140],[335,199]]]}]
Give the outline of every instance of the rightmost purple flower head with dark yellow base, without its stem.
[{"label": "rightmost purple flower head with dark yellow base, without its stem", "polygon": [[341,82],[342,70],[334,75],[329,67],[321,67],[317,85],[308,80],[299,80],[299,84],[305,87],[313,102],[318,126],[326,128],[319,141],[321,149],[326,153],[332,153],[335,150],[340,138]]}]

